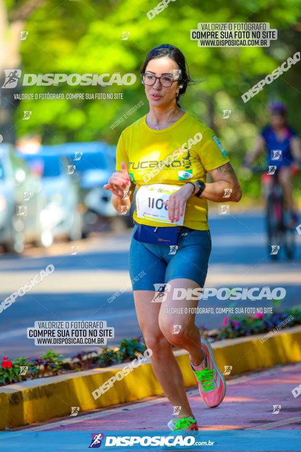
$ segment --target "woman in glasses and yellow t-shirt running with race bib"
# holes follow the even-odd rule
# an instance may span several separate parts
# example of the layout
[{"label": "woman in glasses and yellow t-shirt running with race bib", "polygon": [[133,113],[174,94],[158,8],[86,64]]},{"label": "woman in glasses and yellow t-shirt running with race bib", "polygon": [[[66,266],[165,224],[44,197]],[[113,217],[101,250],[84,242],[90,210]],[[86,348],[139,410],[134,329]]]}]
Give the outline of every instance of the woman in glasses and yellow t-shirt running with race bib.
[{"label": "woman in glasses and yellow t-shirt running with race bib", "polygon": [[[172,345],[188,351],[205,404],[218,406],[226,381],[194,323],[199,296],[192,290],[204,287],[208,270],[207,199],[225,202],[227,192],[227,201],[239,201],[242,191],[214,132],[179,106],[191,82],[183,53],[155,47],[141,77],[149,112],[123,131],[116,173],[104,187],[118,212],[129,210],[137,187],[130,276],[138,323],[154,373],[170,403],[180,407],[168,427],[197,430]],[[205,183],[207,173],[214,182]]]}]

